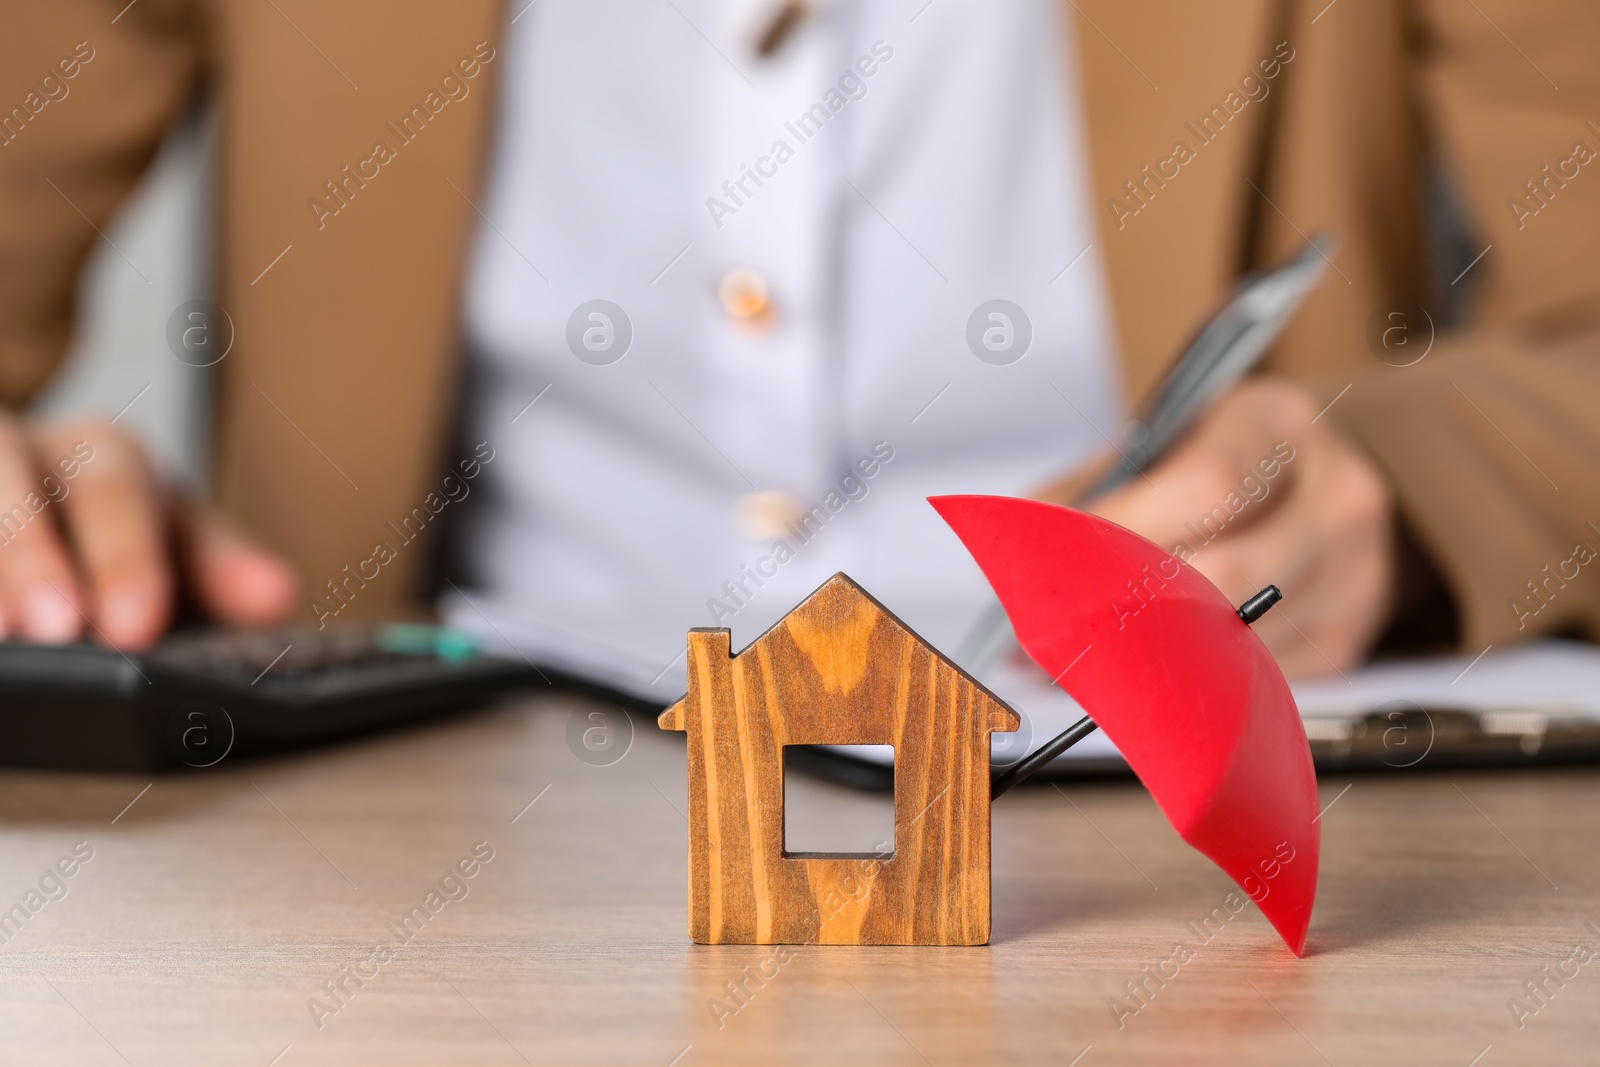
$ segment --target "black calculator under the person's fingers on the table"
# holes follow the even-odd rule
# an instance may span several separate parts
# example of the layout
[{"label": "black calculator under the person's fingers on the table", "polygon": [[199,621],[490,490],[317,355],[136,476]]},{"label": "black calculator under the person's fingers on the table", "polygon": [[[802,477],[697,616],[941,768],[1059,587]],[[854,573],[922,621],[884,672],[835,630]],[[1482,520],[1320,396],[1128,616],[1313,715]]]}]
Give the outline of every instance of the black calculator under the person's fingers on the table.
[{"label": "black calculator under the person's fingers on the table", "polygon": [[123,654],[0,641],[0,766],[208,768],[469,710],[546,688],[461,630],[192,630]]}]

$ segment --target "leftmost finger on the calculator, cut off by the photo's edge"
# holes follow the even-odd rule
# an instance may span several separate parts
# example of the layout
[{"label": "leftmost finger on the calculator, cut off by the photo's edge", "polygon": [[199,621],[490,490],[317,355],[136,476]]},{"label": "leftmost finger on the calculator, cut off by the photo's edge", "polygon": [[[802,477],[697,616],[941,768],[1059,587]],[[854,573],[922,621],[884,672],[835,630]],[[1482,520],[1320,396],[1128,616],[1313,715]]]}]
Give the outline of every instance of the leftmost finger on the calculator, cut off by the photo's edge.
[{"label": "leftmost finger on the calculator, cut off by the photo's edge", "polygon": [[18,419],[0,418],[0,635],[70,641],[83,593]]}]

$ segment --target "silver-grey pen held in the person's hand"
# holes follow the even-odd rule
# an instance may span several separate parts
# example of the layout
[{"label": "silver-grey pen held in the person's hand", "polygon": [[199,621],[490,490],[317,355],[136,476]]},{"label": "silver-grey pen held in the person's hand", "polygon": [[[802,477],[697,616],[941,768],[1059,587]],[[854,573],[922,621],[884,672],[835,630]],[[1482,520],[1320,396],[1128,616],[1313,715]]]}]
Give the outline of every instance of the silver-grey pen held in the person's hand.
[{"label": "silver-grey pen held in the person's hand", "polygon": [[[1286,264],[1242,278],[1234,296],[1200,328],[1123,427],[1126,448],[1118,450],[1120,462],[1074,504],[1086,504],[1138,477],[1166,454],[1219,394],[1248,374],[1317,286],[1333,250],[1334,240],[1318,234]],[[1011,622],[995,601],[962,643],[955,662],[970,675],[982,675],[1014,646]]]}]

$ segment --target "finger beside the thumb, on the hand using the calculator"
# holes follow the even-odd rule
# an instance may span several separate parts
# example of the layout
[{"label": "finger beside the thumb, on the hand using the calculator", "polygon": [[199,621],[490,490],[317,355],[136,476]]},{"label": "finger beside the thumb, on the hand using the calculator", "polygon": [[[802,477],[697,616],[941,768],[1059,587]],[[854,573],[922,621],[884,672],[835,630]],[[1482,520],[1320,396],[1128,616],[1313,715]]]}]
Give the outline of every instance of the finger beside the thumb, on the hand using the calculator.
[{"label": "finger beside the thumb, on the hand using the calculator", "polygon": [[77,461],[61,514],[96,635],[112,648],[147,648],[171,617],[173,573],[160,490],[144,451],[109,422],[53,426],[35,442],[45,462]]}]

